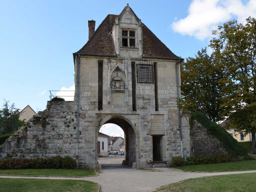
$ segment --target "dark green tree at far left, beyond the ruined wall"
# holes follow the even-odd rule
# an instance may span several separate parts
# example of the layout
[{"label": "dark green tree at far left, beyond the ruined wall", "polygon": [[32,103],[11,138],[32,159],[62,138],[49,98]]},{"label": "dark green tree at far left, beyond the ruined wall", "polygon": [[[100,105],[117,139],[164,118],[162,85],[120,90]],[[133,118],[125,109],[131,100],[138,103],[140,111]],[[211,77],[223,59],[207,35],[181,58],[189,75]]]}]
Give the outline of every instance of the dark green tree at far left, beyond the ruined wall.
[{"label": "dark green tree at far left, beyond the ruined wall", "polygon": [[12,133],[24,124],[24,120],[19,119],[19,109],[15,108],[14,103],[10,106],[8,102],[4,99],[3,108],[0,110],[0,136]]}]

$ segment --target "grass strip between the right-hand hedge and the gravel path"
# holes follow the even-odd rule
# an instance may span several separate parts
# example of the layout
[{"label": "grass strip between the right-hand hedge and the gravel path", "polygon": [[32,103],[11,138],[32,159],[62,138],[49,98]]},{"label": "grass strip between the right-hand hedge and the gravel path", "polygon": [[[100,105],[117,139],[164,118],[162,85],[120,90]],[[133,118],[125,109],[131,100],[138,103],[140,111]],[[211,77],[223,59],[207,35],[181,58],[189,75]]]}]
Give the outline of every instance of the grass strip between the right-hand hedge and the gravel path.
[{"label": "grass strip between the right-hand hedge and the gravel path", "polygon": [[184,171],[239,171],[256,169],[256,160],[175,167]]}]

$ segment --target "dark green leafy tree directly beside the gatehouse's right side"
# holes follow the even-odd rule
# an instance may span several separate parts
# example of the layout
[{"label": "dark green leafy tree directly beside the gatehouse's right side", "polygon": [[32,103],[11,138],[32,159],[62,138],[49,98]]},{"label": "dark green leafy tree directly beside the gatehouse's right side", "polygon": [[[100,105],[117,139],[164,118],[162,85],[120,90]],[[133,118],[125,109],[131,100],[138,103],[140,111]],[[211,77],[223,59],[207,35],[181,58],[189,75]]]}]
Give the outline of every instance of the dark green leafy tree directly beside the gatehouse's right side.
[{"label": "dark green leafy tree directly beside the gatehouse's right side", "polygon": [[221,82],[223,65],[214,54],[209,56],[207,50],[198,51],[195,58],[188,57],[180,66],[181,95],[183,110],[200,111],[214,122],[223,120],[220,109],[224,95]]}]

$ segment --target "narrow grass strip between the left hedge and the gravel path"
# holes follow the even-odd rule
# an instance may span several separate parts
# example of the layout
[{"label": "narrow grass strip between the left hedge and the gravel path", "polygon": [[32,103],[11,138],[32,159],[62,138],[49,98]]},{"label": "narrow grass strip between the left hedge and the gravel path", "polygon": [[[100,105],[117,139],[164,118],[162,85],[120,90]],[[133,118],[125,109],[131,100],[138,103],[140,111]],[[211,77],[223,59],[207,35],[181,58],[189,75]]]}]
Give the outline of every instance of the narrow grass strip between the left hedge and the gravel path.
[{"label": "narrow grass strip between the left hedge and the gravel path", "polygon": [[6,169],[0,170],[4,175],[46,175],[46,176],[91,176],[94,170],[85,169]]}]

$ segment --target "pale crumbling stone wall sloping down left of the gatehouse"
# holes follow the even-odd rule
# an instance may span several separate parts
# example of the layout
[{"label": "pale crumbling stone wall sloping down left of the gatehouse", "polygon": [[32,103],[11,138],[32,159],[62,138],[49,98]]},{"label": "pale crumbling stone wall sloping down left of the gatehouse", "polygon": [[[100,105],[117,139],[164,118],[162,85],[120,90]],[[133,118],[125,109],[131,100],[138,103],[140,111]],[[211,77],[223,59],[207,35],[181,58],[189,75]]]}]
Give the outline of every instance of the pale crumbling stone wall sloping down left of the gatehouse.
[{"label": "pale crumbling stone wall sloping down left of the gatehouse", "polygon": [[[77,111],[74,101],[48,101],[0,148],[0,158],[76,158]],[[82,157],[80,157],[82,158]]]}]

